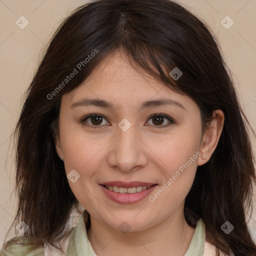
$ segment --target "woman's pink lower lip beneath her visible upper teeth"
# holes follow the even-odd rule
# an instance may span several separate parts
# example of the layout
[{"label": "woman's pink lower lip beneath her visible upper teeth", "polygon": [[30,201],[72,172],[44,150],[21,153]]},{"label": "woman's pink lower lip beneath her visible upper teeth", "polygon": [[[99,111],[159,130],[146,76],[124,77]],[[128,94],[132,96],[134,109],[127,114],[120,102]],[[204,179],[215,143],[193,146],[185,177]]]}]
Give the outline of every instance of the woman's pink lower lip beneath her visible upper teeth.
[{"label": "woman's pink lower lip beneath her visible upper teeth", "polygon": [[110,198],[111,200],[118,202],[118,203],[134,203],[142,200],[145,198],[156,186],[157,184],[154,184],[150,186],[149,188],[142,190],[137,193],[116,193],[114,191],[111,191],[107,188],[105,188],[103,185],[100,185],[105,192],[106,196]]}]

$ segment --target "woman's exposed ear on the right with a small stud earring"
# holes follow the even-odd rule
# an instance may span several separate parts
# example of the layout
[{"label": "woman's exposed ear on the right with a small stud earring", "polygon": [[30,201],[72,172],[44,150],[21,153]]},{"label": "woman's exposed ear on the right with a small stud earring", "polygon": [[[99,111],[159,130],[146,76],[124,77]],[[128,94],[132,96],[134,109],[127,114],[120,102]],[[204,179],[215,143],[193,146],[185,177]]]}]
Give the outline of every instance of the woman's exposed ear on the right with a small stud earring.
[{"label": "woman's exposed ear on the right with a small stud earring", "polygon": [[[201,157],[199,157],[197,165],[202,165],[207,162],[214,152],[224,124],[224,113],[217,109],[213,111],[213,118],[203,133],[200,146]],[[202,158],[204,156],[205,159]]]}]

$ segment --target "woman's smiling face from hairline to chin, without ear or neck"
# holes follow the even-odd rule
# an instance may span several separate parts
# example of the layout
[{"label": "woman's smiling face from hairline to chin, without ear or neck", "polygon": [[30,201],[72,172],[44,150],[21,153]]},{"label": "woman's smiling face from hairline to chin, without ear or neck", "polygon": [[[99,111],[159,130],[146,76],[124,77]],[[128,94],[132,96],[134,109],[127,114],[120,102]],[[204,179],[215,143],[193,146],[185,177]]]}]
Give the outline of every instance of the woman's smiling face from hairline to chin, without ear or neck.
[{"label": "woman's smiling face from hairline to chin, without ear or neck", "polygon": [[135,71],[115,52],[62,96],[56,149],[91,217],[136,231],[183,217],[201,135],[190,97]]}]

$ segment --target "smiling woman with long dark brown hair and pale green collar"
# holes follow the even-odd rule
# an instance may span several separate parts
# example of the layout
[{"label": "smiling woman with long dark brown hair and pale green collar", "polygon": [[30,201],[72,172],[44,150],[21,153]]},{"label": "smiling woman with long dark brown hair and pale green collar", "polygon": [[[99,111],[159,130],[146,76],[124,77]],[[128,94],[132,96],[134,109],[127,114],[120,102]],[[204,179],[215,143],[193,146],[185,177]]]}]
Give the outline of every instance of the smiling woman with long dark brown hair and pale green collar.
[{"label": "smiling woman with long dark brown hair and pale green collar", "polygon": [[175,2],[75,10],[28,88],[16,135],[23,235],[0,255],[256,253],[243,113],[215,38]]}]

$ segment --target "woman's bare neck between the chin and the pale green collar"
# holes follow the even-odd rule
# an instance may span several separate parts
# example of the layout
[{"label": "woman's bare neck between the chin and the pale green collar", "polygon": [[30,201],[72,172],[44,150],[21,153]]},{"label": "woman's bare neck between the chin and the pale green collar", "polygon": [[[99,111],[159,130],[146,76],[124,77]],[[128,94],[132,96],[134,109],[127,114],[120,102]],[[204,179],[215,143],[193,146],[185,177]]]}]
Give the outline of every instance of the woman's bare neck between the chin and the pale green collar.
[{"label": "woman's bare neck between the chin and the pale green collar", "polygon": [[183,256],[191,242],[194,228],[186,223],[183,214],[178,213],[144,230],[127,233],[91,217],[88,238],[99,256]]}]

